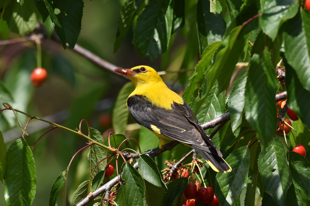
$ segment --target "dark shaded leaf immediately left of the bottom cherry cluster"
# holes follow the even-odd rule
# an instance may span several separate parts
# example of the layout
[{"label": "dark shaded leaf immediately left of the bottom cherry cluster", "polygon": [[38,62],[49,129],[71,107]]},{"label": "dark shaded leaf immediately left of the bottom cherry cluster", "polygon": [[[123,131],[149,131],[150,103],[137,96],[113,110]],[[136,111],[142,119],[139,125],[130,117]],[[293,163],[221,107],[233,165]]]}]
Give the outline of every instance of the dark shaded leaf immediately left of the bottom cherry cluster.
[{"label": "dark shaded leaf immediately left of the bottom cherry cluster", "polygon": [[164,195],[164,201],[162,206],[176,206],[178,200],[182,197],[182,194],[187,187],[188,179],[179,178],[174,181],[171,181]]}]

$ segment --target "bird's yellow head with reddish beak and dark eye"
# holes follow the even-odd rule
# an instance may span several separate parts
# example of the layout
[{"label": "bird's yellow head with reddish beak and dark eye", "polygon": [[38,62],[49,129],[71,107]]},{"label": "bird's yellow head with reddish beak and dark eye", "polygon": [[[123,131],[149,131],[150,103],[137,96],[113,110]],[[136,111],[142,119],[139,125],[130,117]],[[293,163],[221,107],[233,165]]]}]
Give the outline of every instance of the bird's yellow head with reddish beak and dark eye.
[{"label": "bird's yellow head with reddish beak and dark eye", "polygon": [[162,78],[157,74],[155,69],[149,66],[140,65],[131,69],[114,69],[114,71],[130,78],[135,86],[162,81]]}]

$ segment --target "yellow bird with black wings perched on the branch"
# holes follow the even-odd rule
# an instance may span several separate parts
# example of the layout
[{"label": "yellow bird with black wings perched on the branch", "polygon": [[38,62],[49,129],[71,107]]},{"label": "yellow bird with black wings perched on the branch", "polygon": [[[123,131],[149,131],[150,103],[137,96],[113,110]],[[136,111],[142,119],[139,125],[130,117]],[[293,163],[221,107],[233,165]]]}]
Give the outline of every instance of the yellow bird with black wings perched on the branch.
[{"label": "yellow bird with black wings perched on the branch", "polygon": [[159,148],[167,140],[191,146],[216,172],[230,172],[231,167],[201,127],[193,111],[178,94],[170,90],[149,66],[115,69],[135,84],[127,107],[135,121],[159,138]]}]

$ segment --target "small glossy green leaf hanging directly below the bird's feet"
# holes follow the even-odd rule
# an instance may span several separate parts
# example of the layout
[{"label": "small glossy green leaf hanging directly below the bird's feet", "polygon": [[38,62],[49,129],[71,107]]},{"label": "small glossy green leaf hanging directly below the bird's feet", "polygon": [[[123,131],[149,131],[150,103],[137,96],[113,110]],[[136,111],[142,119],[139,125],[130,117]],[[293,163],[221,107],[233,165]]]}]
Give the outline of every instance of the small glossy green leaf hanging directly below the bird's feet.
[{"label": "small glossy green leaf hanging directly below the bird's feet", "polygon": [[159,172],[158,167],[152,158],[146,154],[141,154],[138,164],[139,172],[143,179],[157,187],[166,187],[162,179],[162,174]]}]

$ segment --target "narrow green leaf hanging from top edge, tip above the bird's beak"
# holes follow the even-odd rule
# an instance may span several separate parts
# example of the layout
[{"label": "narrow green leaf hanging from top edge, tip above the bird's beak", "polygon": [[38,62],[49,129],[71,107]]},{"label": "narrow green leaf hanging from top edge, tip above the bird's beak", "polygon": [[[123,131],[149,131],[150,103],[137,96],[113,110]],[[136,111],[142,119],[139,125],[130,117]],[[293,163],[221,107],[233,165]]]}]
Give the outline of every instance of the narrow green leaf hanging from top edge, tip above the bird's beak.
[{"label": "narrow green leaf hanging from top edge, tip above the bird's beak", "polygon": [[116,39],[114,42],[114,50],[116,52],[117,49],[121,46],[125,36],[127,35],[132,21],[136,16],[136,5],[135,0],[127,0],[125,4],[122,6],[121,13],[118,20],[118,29],[116,34]]}]

